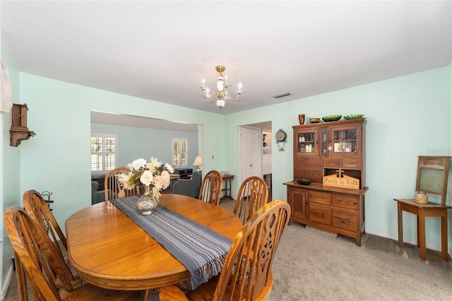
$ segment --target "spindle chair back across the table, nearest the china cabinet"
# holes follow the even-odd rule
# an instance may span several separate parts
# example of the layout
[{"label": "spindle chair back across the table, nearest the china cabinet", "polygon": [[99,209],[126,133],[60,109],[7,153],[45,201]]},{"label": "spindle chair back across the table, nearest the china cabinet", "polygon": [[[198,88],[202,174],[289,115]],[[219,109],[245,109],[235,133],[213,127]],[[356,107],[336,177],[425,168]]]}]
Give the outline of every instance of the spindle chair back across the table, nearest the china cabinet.
[{"label": "spindle chair back across the table, nearest the china cabinet", "polygon": [[242,224],[268,201],[268,186],[261,177],[248,177],[242,182],[235,200],[234,213]]}]

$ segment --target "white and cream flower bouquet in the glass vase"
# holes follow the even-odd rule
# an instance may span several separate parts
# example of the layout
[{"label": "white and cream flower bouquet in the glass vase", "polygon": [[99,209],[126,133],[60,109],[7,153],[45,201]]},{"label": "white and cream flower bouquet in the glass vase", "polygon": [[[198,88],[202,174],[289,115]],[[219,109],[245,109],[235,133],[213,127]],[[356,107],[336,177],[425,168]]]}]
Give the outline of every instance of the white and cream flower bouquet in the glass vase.
[{"label": "white and cream flower bouquet in the glass vase", "polygon": [[160,199],[160,190],[169,186],[171,181],[169,175],[174,172],[171,165],[168,163],[162,165],[158,158],[154,157],[150,158],[150,163],[146,163],[143,158],[133,160],[127,167],[131,170],[129,175],[117,175],[124,188],[133,189],[143,184],[152,189],[156,199]]}]

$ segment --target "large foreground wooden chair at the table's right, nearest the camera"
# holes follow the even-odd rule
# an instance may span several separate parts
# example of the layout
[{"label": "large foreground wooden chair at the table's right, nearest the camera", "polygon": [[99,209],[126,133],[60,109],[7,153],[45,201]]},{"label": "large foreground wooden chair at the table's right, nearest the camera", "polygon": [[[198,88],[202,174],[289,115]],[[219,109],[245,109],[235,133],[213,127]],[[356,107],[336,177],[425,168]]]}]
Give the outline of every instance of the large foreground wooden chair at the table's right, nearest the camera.
[{"label": "large foreground wooden chair at the table's right, nearest the camera", "polygon": [[288,203],[267,203],[235,237],[220,275],[186,295],[176,285],[169,285],[160,290],[160,300],[264,300],[273,285],[271,266],[289,218]]}]

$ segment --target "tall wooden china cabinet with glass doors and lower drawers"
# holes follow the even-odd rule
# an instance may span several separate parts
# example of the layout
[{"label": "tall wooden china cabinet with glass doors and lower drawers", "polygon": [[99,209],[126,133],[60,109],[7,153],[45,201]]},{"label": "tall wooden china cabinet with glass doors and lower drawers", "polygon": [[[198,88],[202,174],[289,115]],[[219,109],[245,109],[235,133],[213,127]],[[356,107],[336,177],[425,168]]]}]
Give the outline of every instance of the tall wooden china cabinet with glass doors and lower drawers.
[{"label": "tall wooden china cabinet with glass doors and lower drawers", "polygon": [[[356,239],[364,232],[364,126],[350,119],[293,126],[293,181],[287,186],[291,220]],[[356,189],[332,187],[326,177],[354,179]],[[330,177],[330,178],[331,178]],[[302,185],[297,179],[310,179]],[[340,182],[340,181],[338,181]]]}]

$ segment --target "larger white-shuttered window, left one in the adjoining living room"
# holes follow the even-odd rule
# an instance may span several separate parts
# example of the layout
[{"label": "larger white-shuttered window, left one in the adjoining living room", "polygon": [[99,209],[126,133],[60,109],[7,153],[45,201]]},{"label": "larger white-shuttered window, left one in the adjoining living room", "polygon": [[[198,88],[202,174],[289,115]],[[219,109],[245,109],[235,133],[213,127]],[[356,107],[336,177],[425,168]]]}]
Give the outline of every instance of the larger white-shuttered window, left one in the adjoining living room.
[{"label": "larger white-shuttered window, left one in the adjoining living room", "polygon": [[91,172],[105,173],[118,164],[118,136],[91,134]]}]

